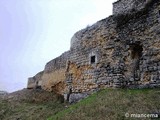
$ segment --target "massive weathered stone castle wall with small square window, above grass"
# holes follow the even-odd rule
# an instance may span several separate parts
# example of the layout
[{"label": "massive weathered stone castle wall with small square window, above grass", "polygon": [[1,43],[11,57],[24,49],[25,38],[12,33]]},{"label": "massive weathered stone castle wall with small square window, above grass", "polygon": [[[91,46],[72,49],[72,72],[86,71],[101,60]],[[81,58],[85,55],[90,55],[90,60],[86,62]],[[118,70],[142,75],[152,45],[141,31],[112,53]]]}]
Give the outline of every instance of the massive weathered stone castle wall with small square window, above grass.
[{"label": "massive weathered stone castle wall with small square window, above grass", "polygon": [[46,64],[42,88],[73,102],[101,88],[160,87],[160,2],[123,12],[137,2],[119,0],[128,4],[122,14],[114,6],[115,14],[75,33],[70,50]]}]

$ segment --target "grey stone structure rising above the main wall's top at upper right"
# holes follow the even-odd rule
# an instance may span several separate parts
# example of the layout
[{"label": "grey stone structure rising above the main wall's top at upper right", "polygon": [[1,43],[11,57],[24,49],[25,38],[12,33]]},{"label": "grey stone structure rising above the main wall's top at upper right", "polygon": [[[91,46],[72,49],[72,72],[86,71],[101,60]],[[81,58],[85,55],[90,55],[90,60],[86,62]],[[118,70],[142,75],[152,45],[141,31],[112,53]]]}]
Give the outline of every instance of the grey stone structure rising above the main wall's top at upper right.
[{"label": "grey stone structure rising above the main wall's top at upper right", "polygon": [[150,0],[118,0],[113,3],[113,14],[126,14],[139,11],[145,7]]}]

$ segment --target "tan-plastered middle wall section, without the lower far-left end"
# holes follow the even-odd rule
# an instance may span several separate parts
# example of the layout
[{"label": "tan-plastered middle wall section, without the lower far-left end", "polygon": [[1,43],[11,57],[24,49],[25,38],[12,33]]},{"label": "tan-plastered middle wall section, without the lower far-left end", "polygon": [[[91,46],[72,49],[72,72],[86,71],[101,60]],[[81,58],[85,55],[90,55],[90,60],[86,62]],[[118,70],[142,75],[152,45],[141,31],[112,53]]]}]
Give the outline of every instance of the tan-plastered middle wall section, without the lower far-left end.
[{"label": "tan-plastered middle wall section, without the lower far-left end", "polygon": [[64,80],[66,71],[66,62],[69,52],[48,62],[42,76],[42,88],[48,91],[61,93],[64,90]]}]

